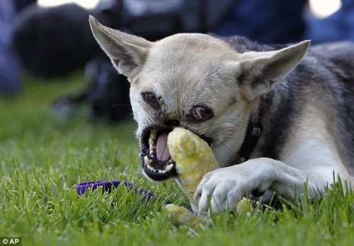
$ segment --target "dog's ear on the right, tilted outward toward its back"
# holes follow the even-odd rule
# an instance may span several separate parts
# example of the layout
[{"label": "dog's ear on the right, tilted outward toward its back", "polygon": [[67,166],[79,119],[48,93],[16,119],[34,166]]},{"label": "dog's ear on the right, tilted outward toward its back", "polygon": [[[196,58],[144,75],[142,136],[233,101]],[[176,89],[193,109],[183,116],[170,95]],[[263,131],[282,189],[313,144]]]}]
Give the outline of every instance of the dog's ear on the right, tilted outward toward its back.
[{"label": "dog's ear on the right, tilted outward toward its back", "polygon": [[270,52],[241,54],[239,86],[247,98],[253,100],[268,93],[275,84],[299,64],[309,47],[309,40]]}]

